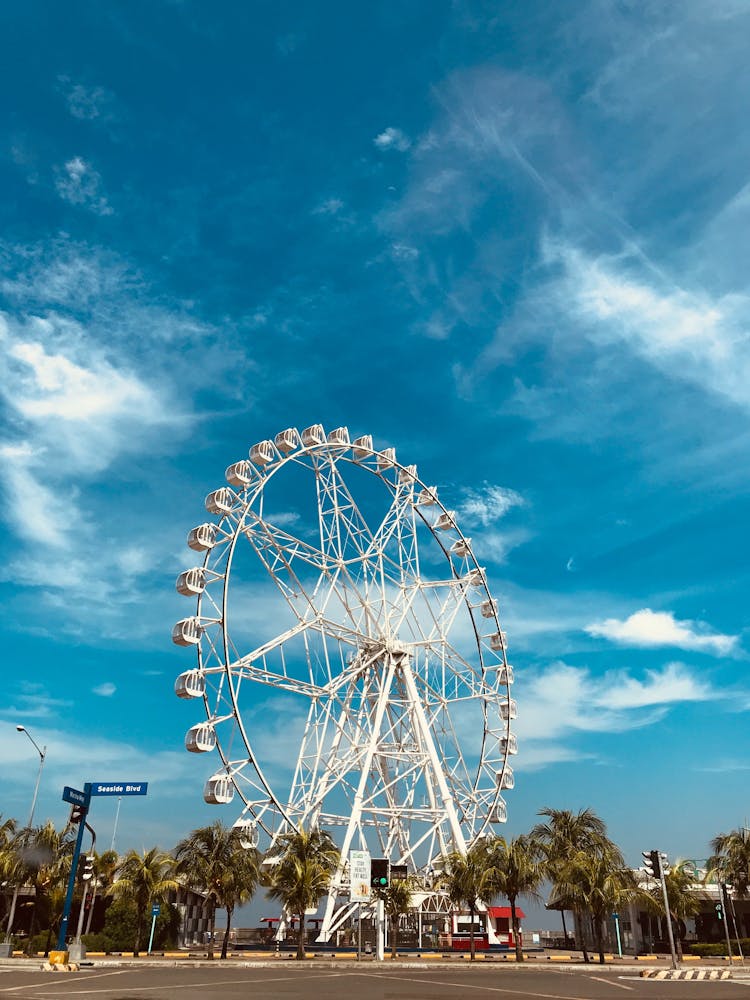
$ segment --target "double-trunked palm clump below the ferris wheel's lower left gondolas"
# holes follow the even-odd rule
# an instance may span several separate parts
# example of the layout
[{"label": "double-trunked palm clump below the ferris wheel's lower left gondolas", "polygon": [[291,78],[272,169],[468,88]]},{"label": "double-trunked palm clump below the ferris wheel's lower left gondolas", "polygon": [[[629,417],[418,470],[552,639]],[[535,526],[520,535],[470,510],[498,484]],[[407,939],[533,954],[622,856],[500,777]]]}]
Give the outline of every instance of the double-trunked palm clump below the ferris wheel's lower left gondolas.
[{"label": "double-trunked palm clump below the ferris wheel's lower left gondolas", "polygon": [[175,848],[177,875],[209,901],[208,957],[214,957],[214,922],[217,906],[227,911],[221,957],[227,957],[229,929],[236,906],[246,902],[258,885],[258,855],[242,846],[242,835],[217,820],[193,830]]}]

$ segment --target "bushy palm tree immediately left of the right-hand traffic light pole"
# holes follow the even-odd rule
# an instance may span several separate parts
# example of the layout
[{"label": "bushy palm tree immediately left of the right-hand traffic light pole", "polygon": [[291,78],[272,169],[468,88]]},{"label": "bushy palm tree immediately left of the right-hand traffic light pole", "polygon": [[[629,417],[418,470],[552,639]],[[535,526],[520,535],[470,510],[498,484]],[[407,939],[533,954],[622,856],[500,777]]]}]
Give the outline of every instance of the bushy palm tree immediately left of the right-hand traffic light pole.
[{"label": "bushy palm tree immediately left of the right-hand traffic light pole", "polygon": [[[577,851],[558,871],[555,890],[578,913],[588,912],[594,927],[599,961],[604,964],[604,924],[613,910],[637,895],[635,876],[625,867],[619,848],[610,843],[597,851]],[[588,952],[584,950],[588,962]]]}]

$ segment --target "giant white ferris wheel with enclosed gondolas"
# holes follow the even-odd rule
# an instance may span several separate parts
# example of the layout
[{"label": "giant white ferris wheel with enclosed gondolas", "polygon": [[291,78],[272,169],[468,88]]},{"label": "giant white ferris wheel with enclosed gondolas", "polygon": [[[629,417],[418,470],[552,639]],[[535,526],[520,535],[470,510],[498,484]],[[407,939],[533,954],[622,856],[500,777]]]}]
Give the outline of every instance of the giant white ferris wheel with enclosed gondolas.
[{"label": "giant white ferris wheel with enclosed gondolas", "polygon": [[471,540],[393,448],[290,428],[226,480],[177,579],[197,663],[175,691],[205,710],[185,743],[218,754],[204,798],[239,797],[247,844],[333,832],[326,939],[350,849],[424,872],[505,821],[513,668]]}]

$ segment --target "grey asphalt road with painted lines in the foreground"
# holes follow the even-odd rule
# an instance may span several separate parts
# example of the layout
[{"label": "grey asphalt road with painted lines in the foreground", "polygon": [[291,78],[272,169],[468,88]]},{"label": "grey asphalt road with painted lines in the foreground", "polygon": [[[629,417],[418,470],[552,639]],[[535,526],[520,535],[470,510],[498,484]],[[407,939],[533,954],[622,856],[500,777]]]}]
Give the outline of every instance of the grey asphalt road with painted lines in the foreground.
[{"label": "grey asphalt road with painted lines in the foreground", "polygon": [[661,982],[627,970],[384,968],[0,969],[0,1000],[750,1000],[750,979]]}]

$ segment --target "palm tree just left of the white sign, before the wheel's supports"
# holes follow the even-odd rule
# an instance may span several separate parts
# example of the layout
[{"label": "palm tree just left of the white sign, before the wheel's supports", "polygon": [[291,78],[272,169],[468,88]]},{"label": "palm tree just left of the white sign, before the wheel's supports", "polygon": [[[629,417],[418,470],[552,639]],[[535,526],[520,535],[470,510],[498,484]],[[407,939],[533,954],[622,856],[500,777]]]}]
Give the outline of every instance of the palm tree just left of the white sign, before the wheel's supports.
[{"label": "palm tree just left of the white sign, before the wheel's supports", "polygon": [[[305,911],[317,907],[328,892],[339,863],[339,851],[331,835],[317,827],[300,828],[281,836],[275,845],[281,856],[270,863],[263,877],[268,895],[283,904],[287,913],[299,916],[297,958],[305,957]],[[275,851],[274,851],[275,853]]]}]

